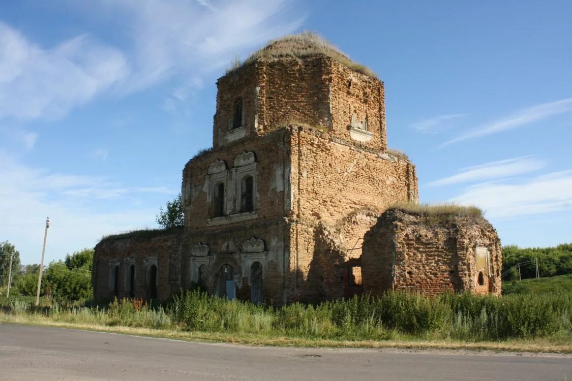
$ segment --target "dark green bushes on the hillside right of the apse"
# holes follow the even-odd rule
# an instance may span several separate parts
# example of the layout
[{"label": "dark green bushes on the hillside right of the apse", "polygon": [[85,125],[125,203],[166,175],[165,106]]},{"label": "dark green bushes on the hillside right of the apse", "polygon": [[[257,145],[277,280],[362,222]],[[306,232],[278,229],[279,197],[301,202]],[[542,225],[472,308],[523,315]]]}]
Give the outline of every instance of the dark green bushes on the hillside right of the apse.
[{"label": "dark green bushes on the hillside right of the apse", "polygon": [[557,247],[526,247],[507,245],[502,248],[503,273],[505,280],[518,279],[518,263],[521,263],[521,277],[536,277],[536,262],[541,277],[572,274],[572,243]]}]

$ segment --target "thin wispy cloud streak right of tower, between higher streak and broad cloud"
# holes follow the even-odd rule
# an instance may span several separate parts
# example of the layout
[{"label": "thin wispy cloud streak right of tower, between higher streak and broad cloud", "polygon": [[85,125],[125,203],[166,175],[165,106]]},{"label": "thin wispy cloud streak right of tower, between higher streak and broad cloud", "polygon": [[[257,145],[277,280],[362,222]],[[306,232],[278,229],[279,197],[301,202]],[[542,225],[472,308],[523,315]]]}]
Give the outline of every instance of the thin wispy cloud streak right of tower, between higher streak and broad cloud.
[{"label": "thin wispy cloud streak right of tower, between higher streak and broad cloud", "polygon": [[483,181],[513,177],[541,169],[546,165],[543,159],[525,156],[484,163],[460,169],[458,174],[427,183],[427,186],[444,186],[471,181]]}]

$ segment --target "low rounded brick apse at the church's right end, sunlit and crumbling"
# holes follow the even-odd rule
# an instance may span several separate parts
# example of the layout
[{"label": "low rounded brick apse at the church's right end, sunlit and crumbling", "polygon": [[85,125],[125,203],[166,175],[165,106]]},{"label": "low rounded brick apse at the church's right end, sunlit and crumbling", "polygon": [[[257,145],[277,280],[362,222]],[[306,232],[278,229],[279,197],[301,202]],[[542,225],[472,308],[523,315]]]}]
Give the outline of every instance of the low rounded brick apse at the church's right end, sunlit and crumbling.
[{"label": "low rounded brick apse at the church's right end, sunlit and crumbling", "polygon": [[364,291],[373,295],[390,290],[501,294],[501,241],[484,218],[427,222],[387,211],[364,238],[362,266]]}]

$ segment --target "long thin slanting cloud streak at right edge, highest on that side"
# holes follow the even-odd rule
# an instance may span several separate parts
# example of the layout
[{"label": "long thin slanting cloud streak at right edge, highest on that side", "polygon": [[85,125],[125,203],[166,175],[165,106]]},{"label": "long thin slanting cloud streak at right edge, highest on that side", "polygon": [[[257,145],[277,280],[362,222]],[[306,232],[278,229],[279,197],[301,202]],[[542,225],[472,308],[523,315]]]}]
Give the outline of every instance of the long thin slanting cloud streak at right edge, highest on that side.
[{"label": "long thin slanting cloud streak at right edge, highest on that side", "polygon": [[445,147],[468,139],[498,134],[502,131],[516,129],[530,123],[542,121],[543,119],[552,117],[553,115],[563,114],[569,111],[572,111],[572,98],[561,99],[560,101],[543,103],[542,105],[521,109],[508,117],[496,119],[495,121],[475,127],[467,133],[444,142],[439,147]]}]

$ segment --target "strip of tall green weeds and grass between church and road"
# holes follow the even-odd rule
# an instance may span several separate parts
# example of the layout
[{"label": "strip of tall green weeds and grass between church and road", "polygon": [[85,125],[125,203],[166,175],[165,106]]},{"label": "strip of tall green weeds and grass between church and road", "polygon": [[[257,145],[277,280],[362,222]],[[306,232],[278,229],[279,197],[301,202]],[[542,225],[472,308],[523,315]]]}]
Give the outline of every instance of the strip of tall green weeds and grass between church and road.
[{"label": "strip of tall green weeds and grass between church and road", "polygon": [[[0,301],[1,302],[1,301]],[[6,303],[6,301],[4,301]],[[34,307],[11,300],[4,317],[49,318],[53,322],[129,326],[198,332],[234,332],[325,340],[543,339],[570,343],[572,294],[480,296],[445,294],[426,298],[395,292],[382,297],[355,296],[280,308],[220,299],[184,291],[166,307],[117,300],[105,308]]]}]

